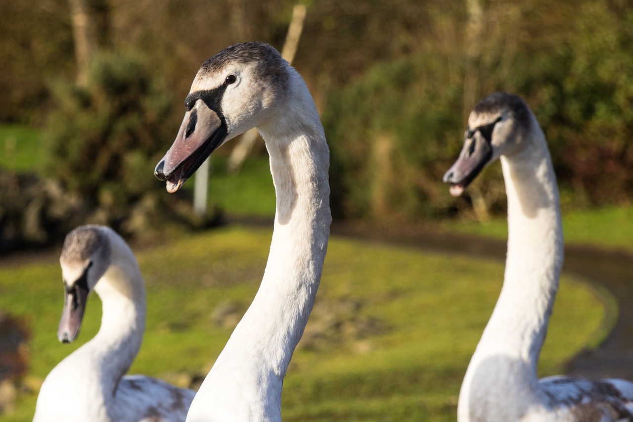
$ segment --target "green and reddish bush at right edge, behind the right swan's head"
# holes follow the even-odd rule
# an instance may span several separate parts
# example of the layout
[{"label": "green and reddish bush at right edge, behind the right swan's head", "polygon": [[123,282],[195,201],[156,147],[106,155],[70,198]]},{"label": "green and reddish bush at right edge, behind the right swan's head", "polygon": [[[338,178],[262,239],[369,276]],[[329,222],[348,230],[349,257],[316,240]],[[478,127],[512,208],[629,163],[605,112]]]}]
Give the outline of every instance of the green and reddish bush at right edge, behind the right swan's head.
[{"label": "green and reddish bush at right edge, behind the right swan's head", "polygon": [[543,104],[555,110],[546,134],[558,145],[558,173],[591,204],[633,200],[633,11],[627,9],[584,5],[565,53],[566,72]]}]

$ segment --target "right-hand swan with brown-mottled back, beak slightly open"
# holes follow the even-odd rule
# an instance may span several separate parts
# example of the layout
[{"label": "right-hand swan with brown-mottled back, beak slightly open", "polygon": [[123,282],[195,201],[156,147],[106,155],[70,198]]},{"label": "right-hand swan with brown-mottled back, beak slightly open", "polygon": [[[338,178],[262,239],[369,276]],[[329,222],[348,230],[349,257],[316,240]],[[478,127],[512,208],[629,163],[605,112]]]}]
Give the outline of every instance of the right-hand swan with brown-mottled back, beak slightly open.
[{"label": "right-hand swan with brown-mottled back, beak slightly open", "polygon": [[477,345],[458,403],[465,421],[631,421],[633,384],[537,379],[563,263],[556,176],[545,136],[521,98],[495,93],[468,118],[460,158],[444,175],[460,195],[499,158],[508,196],[505,280]]}]

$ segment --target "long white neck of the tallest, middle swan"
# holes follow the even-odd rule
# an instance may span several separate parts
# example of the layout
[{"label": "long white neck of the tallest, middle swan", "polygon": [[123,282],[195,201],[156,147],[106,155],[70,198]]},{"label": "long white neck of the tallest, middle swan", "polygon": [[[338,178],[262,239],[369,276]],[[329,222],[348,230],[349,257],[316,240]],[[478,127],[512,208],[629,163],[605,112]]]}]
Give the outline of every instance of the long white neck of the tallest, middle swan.
[{"label": "long white neck of the tallest, middle swan", "polygon": [[284,113],[258,125],[277,193],[266,270],[197,393],[189,422],[281,419],[282,382],[314,304],[332,221],[323,127],[303,80],[293,74],[292,84]]}]

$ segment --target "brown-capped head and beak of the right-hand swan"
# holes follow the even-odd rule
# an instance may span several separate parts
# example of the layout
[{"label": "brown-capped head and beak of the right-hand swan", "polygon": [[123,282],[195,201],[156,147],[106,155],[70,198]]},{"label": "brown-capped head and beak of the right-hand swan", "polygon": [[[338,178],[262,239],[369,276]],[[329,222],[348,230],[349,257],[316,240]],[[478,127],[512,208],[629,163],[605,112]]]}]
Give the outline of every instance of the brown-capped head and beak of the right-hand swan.
[{"label": "brown-capped head and beak of the right-hand swan", "polygon": [[531,114],[515,94],[494,93],[477,103],[468,117],[460,157],[443,177],[451,195],[460,196],[484,167],[525,146]]}]

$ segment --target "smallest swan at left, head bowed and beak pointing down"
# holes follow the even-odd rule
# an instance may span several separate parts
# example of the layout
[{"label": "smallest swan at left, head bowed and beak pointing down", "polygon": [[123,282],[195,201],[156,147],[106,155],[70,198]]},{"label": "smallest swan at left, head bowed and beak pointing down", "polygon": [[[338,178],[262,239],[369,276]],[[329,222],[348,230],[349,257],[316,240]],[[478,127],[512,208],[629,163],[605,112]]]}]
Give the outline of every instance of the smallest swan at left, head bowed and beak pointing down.
[{"label": "smallest swan at left, head bowed and beak pointing down", "polygon": [[60,258],[65,303],[57,336],[79,333],[88,294],[103,302],[101,328],[46,376],[34,422],[184,421],[195,392],[142,375],[123,376],[141,348],[145,286],[134,253],[110,227],[77,227]]}]

